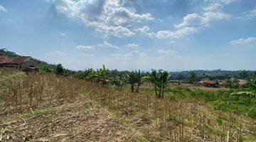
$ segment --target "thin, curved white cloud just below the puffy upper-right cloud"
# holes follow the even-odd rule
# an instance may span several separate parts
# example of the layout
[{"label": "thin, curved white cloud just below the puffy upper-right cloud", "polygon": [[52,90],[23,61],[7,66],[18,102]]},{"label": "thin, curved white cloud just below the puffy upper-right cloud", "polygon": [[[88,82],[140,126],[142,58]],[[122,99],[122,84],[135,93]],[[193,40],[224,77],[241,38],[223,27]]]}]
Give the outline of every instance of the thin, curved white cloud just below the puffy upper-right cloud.
[{"label": "thin, curved white cloud just below the puffy upper-right cloud", "polygon": [[159,38],[159,39],[174,39],[174,38],[182,38],[185,35],[188,35],[190,33],[195,33],[198,31],[198,28],[193,27],[184,27],[181,29],[178,29],[177,31],[157,31],[149,32],[149,27],[144,26],[143,28],[137,28],[134,31],[137,31],[139,33],[142,33],[143,35],[147,35],[150,38]]}]

